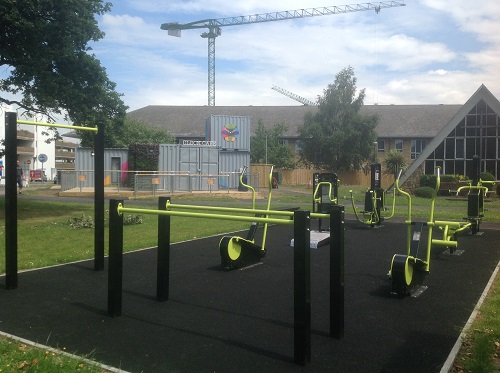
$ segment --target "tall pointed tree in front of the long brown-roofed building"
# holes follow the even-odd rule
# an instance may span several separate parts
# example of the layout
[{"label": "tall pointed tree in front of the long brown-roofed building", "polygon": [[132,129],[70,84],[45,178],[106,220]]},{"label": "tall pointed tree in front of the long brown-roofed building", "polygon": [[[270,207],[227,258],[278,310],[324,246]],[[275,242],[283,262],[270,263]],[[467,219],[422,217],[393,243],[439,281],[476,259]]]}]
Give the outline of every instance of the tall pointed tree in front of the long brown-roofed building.
[{"label": "tall pointed tree in front of the long brown-roofed building", "polygon": [[339,72],[318,97],[318,112],[308,113],[299,128],[302,159],[322,169],[356,171],[370,158],[377,116],[359,113],[365,90],[356,96],[354,70]]}]

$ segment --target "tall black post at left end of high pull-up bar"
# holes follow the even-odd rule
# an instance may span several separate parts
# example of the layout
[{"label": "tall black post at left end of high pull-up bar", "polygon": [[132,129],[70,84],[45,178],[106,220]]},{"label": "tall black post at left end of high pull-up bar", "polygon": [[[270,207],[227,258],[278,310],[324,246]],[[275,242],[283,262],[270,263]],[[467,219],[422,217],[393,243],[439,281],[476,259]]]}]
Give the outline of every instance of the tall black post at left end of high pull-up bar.
[{"label": "tall black post at left end of high pull-up bar", "polygon": [[17,288],[17,114],[5,113],[5,288]]}]

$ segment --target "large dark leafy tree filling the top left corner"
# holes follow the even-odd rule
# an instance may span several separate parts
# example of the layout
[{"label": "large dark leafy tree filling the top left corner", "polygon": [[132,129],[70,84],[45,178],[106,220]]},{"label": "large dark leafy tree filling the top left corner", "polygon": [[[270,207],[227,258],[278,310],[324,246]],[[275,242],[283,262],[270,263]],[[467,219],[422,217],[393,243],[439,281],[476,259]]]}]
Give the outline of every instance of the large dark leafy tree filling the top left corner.
[{"label": "large dark leafy tree filling the top left corner", "polygon": [[2,0],[0,102],[50,121],[64,115],[106,127],[105,146],[113,146],[126,106],[88,45],[104,36],[95,16],[110,7],[101,0]]}]

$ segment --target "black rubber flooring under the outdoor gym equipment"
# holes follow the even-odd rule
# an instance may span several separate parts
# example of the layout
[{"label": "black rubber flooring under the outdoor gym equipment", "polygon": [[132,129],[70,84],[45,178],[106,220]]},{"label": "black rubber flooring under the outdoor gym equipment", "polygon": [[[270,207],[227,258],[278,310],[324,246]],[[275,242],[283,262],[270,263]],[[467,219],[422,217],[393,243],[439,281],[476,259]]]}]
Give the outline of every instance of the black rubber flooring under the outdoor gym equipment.
[{"label": "black rubber flooring under the outdoor gym equipment", "polygon": [[397,298],[387,272],[392,255],[405,252],[405,225],[345,227],[344,338],[329,337],[329,250],[320,246],[311,249],[306,366],[293,363],[290,226],[270,227],[267,256],[246,270],[221,270],[220,236],[173,245],[165,302],[155,300],[155,249],[126,254],[115,318],[107,316],[107,265],[22,272],[16,290],[2,278],[0,330],[129,372],[439,372],[500,260],[500,230],[461,236],[461,255],[435,249],[427,290]]}]

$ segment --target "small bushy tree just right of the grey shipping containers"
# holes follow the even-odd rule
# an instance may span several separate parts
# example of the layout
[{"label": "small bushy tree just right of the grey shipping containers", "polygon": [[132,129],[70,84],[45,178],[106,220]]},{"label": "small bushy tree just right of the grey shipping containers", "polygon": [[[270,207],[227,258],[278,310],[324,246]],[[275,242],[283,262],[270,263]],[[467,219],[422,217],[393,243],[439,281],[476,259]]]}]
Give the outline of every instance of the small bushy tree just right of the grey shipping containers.
[{"label": "small bushy tree just right of the grey shipping containers", "polygon": [[255,135],[250,137],[250,162],[269,163],[277,168],[291,169],[295,167],[294,153],[280,139],[286,132],[286,126],[276,124],[266,128],[259,120]]}]

